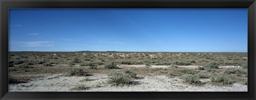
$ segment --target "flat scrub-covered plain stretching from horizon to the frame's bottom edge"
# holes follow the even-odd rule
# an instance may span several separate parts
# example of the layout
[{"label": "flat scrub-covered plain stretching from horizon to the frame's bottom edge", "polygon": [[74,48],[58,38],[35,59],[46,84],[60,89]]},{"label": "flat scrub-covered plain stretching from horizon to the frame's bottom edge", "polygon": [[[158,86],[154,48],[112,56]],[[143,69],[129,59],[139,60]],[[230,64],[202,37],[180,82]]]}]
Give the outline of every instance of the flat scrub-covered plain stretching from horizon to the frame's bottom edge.
[{"label": "flat scrub-covered plain stretching from horizon to the frame's bottom edge", "polygon": [[9,52],[9,91],[247,91],[247,53]]}]

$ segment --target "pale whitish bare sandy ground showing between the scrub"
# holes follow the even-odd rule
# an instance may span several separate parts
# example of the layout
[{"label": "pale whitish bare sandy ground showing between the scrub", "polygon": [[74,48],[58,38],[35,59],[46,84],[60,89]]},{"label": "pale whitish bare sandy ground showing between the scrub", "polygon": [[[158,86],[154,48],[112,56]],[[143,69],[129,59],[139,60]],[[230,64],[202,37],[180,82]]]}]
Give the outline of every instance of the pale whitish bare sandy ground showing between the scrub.
[{"label": "pale whitish bare sandy ground showing between the scrub", "polygon": [[[126,65],[127,67],[145,67],[145,65]],[[120,66],[125,67],[125,66]],[[167,68],[164,65],[152,65],[150,68]],[[195,69],[198,66],[179,66]],[[221,68],[239,68],[241,66],[221,66]],[[63,74],[38,74],[42,78],[21,84],[10,84],[9,91],[73,91],[78,85],[88,87],[78,91],[247,91],[247,86],[236,82],[230,86],[215,86],[207,83],[210,79],[201,79],[203,85],[189,85],[178,77],[151,74],[135,80],[135,85],[112,86],[107,83],[106,73],[93,73],[93,76],[65,77]],[[82,80],[87,81],[82,81]],[[77,91],[77,90],[75,90]]]}]

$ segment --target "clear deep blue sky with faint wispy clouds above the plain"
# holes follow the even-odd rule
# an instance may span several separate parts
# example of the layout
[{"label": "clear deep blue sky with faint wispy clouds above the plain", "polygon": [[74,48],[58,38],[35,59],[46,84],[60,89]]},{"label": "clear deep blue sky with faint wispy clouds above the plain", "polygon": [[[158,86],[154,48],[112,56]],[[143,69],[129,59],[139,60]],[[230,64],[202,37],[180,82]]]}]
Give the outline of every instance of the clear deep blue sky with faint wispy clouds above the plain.
[{"label": "clear deep blue sky with faint wispy clouds above the plain", "polygon": [[247,52],[247,9],[9,9],[9,51]]}]

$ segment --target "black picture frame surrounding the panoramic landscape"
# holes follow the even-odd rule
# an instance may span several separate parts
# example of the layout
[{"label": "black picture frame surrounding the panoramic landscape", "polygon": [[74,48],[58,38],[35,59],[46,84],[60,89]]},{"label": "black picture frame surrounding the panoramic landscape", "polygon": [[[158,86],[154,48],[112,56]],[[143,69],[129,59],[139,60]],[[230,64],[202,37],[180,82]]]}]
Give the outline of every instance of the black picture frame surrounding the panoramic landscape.
[{"label": "black picture frame surrounding the panoramic landscape", "polygon": [[[0,0],[0,99],[255,99],[255,0]],[[247,8],[247,92],[8,92],[10,8]]]}]

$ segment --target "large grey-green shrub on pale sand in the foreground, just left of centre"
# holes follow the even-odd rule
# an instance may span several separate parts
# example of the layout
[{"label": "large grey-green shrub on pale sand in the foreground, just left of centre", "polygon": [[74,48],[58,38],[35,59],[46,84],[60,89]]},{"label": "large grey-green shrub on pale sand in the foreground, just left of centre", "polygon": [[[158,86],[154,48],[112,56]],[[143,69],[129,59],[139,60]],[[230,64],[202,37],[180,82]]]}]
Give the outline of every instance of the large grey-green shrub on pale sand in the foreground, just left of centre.
[{"label": "large grey-green shrub on pale sand in the foreground, just left of centre", "polygon": [[130,85],[133,84],[132,76],[129,74],[121,73],[121,72],[111,72],[108,75],[108,82],[110,84],[120,85],[126,84]]}]

